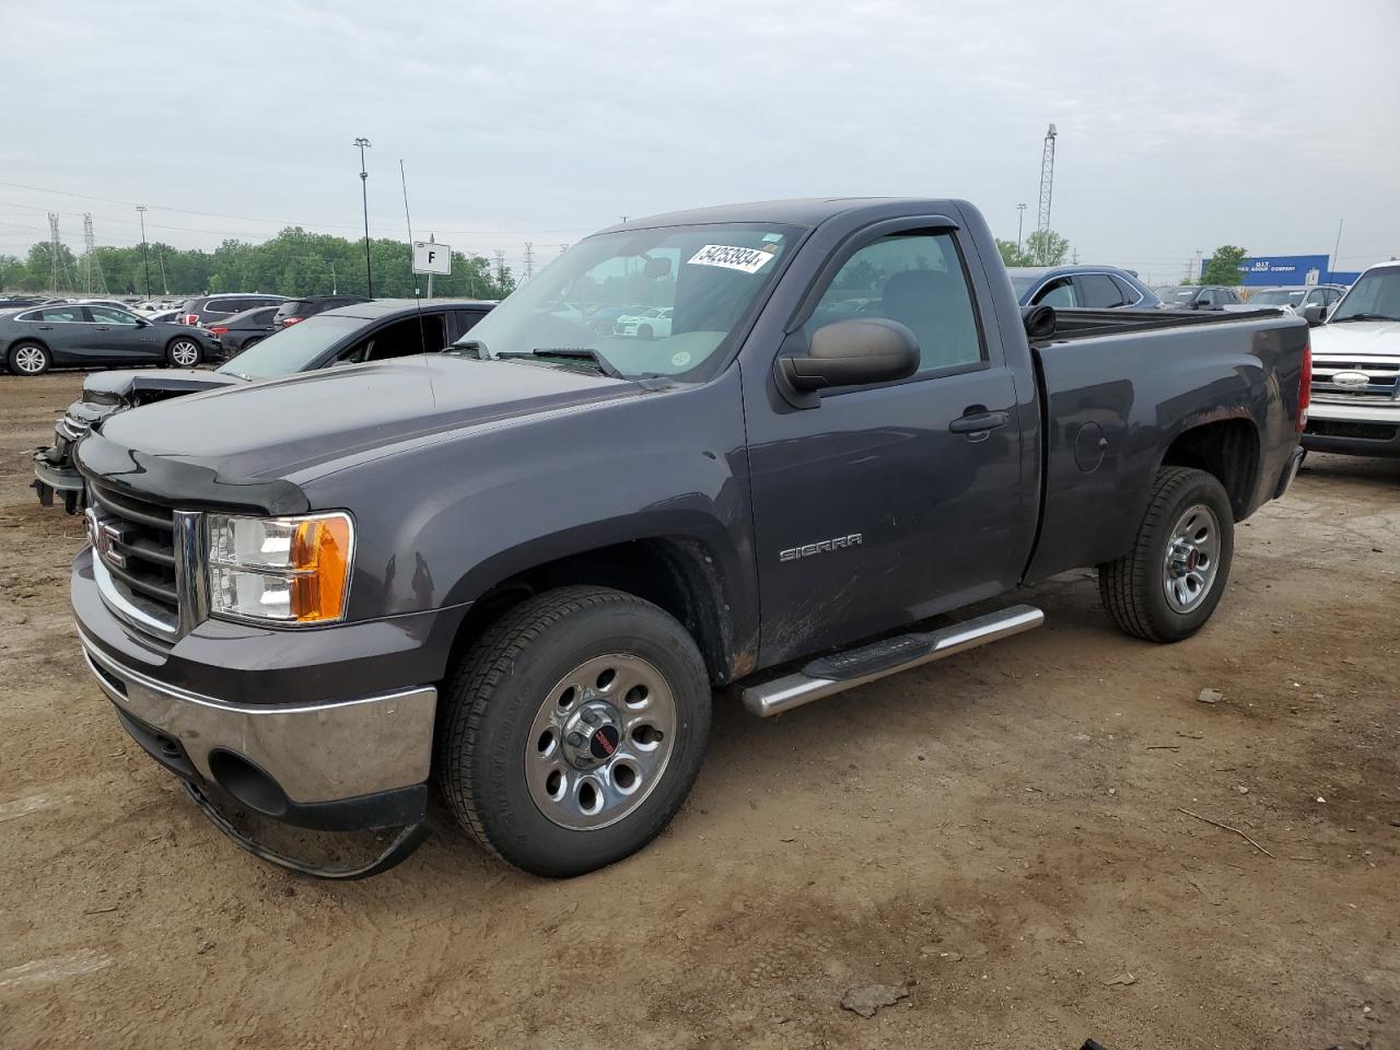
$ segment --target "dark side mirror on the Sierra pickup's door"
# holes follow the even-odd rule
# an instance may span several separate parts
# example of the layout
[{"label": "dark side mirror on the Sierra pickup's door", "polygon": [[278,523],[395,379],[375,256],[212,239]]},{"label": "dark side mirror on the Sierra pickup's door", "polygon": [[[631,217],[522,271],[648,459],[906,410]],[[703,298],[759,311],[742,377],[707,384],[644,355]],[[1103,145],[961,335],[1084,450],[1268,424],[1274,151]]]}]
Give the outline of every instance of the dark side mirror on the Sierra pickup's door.
[{"label": "dark side mirror on the Sierra pickup's door", "polygon": [[790,400],[804,409],[816,407],[819,391],[893,382],[917,371],[918,340],[886,318],[833,321],[812,333],[806,353],[778,358],[778,374],[795,395]]}]

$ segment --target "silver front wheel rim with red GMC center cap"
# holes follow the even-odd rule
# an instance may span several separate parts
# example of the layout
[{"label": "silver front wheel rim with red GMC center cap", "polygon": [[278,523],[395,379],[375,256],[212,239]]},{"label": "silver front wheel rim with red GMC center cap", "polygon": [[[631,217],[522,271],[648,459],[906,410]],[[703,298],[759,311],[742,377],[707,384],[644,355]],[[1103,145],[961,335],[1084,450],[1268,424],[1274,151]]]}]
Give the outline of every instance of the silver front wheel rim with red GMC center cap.
[{"label": "silver front wheel rim with red GMC center cap", "polygon": [[525,781],[552,823],[592,832],[634,812],[671,763],[676,700],[640,657],[594,657],[545,696],[525,741]]}]

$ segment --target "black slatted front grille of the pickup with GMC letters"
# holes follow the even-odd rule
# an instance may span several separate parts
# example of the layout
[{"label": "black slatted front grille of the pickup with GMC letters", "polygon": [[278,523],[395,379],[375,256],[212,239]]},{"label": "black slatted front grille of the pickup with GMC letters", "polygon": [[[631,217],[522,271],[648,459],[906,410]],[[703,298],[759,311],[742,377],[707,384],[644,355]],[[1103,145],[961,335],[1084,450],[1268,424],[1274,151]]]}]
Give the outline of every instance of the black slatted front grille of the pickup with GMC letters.
[{"label": "black slatted front grille of the pickup with GMC letters", "polygon": [[175,514],[88,477],[94,547],[122,598],[171,630],[179,623]]}]

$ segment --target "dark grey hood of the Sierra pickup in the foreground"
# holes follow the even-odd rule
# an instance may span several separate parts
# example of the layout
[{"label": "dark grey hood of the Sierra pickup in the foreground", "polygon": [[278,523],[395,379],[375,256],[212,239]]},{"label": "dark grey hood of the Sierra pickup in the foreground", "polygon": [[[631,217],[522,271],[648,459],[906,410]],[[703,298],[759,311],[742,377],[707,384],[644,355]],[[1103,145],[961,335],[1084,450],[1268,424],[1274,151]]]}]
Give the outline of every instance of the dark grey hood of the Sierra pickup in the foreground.
[{"label": "dark grey hood of the Sierra pickup in the foreground", "polygon": [[176,398],[113,416],[102,437],[228,480],[300,483],[367,452],[643,392],[574,370],[428,354]]}]

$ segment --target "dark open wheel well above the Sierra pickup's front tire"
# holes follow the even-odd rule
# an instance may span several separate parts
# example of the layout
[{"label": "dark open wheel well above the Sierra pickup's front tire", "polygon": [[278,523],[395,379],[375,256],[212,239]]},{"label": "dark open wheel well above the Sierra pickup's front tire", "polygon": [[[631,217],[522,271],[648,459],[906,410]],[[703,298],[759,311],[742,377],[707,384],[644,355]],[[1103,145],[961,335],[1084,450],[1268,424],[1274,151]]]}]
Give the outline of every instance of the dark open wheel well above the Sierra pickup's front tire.
[{"label": "dark open wheel well above the Sierra pickup's front tire", "polygon": [[[724,685],[752,671],[752,658],[734,638],[734,617],[720,559],[690,536],[652,536],[566,554],[493,584],[472,603],[458,627],[448,659],[455,666],[470,645],[507,610],[559,587],[612,587],[659,606],[694,638],[710,680]],[[753,647],[746,647],[748,652]]]}]

